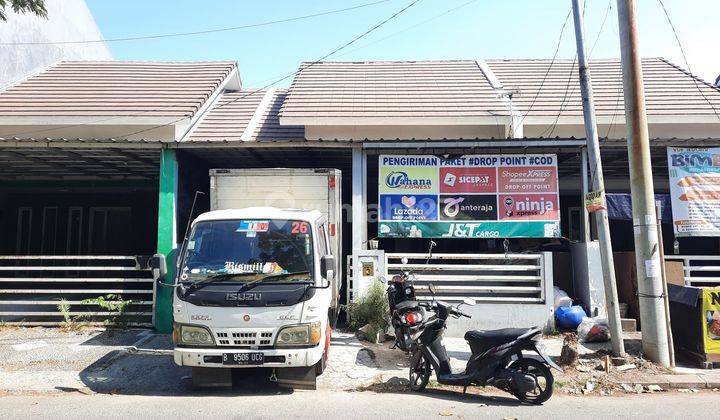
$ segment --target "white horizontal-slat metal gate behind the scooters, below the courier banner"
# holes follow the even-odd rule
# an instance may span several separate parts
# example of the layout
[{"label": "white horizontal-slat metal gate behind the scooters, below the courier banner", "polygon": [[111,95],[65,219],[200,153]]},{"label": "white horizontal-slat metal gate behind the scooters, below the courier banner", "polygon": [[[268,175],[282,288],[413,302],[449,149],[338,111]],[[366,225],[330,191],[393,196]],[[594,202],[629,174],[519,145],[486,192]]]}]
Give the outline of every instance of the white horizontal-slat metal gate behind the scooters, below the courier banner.
[{"label": "white horizontal-slat metal gate behind the scooters, below the courier banner", "polygon": [[544,303],[546,285],[552,288],[549,253],[433,254],[429,259],[427,254],[388,253],[385,257],[388,276],[402,271],[415,274],[420,299],[429,298],[430,283],[435,285],[436,298],[446,301],[470,297],[478,302]]}]

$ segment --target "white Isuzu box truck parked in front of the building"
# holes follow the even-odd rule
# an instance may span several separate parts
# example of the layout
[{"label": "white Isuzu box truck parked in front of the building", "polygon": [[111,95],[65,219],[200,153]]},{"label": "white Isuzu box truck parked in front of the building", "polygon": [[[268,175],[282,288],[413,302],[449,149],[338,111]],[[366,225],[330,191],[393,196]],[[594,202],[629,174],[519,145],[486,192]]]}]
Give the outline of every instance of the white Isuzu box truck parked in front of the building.
[{"label": "white Isuzu box truck parked in front of the building", "polygon": [[337,169],[213,169],[211,211],[191,225],[176,266],[175,363],[197,385],[233,368],[270,368],[315,388],[340,292]]}]

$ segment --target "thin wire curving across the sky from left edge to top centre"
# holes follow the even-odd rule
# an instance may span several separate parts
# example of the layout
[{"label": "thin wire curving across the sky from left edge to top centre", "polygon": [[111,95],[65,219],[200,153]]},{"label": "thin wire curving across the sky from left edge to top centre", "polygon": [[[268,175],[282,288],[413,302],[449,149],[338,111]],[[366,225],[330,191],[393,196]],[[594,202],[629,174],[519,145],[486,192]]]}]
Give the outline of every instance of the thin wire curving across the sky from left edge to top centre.
[{"label": "thin wire curving across the sky from left edge to top centre", "polygon": [[357,6],[345,7],[342,9],[327,10],[324,12],[313,13],[313,14],[309,14],[309,15],[294,16],[294,17],[285,18],[285,19],[270,20],[267,22],[251,23],[248,25],[206,29],[206,30],[202,30],[202,31],[177,32],[177,33],[156,34],[156,35],[146,35],[146,36],[131,36],[131,37],[122,37],[122,38],[88,39],[88,40],[80,40],[80,41],[0,42],[0,45],[18,45],[19,46],[19,45],[93,44],[93,43],[102,43],[102,42],[140,41],[140,40],[145,40],[145,39],[160,39],[160,38],[174,38],[174,37],[193,36],[193,35],[205,35],[205,34],[212,34],[212,33],[218,33],[218,32],[229,32],[229,31],[237,31],[237,30],[241,30],[241,29],[258,28],[261,26],[270,26],[270,25],[275,25],[278,23],[294,22],[294,21],[298,21],[298,20],[310,19],[310,18],[319,17],[319,16],[332,15],[335,13],[342,13],[342,12],[347,12],[350,10],[360,9],[363,7],[375,6],[377,4],[387,3],[389,1],[391,1],[391,0],[378,0],[378,1],[371,2],[371,3],[363,3],[363,4],[359,4]]}]

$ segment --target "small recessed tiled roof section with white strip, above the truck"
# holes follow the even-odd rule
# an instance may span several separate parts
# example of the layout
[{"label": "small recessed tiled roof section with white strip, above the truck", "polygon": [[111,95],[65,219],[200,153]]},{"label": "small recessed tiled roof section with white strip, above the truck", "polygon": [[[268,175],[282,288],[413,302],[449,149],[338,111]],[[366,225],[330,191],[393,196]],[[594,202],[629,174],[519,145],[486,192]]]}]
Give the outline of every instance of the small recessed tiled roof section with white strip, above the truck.
[{"label": "small recessed tiled roof section with white strip, above the truck", "polygon": [[192,142],[243,141],[243,133],[256,116],[244,141],[302,141],[305,129],[302,126],[281,126],[278,111],[285,100],[287,91],[277,89],[263,102],[267,90],[246,89],[225,92],[207,111],[197,127],[188,137]]}]

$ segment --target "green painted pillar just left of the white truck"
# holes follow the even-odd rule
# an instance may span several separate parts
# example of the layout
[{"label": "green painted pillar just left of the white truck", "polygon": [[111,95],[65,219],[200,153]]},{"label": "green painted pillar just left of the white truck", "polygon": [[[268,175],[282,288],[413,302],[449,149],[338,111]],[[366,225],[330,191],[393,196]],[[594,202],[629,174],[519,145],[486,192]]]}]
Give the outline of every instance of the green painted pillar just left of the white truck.
[{"label": "green painted pillar just left of the white truck", "polygon": [[[160,154],[160,179],[158,199],[158,244],[157,252],[164,254],[168,265],[165,284],[172,284],[175,273],[177,238],[175,221],[177,214],[178,164],[175,150],[163,149]],[[158,286],[155,295],[155,329],[159,332],[172,331],[172,291],[170,287]]]}]

